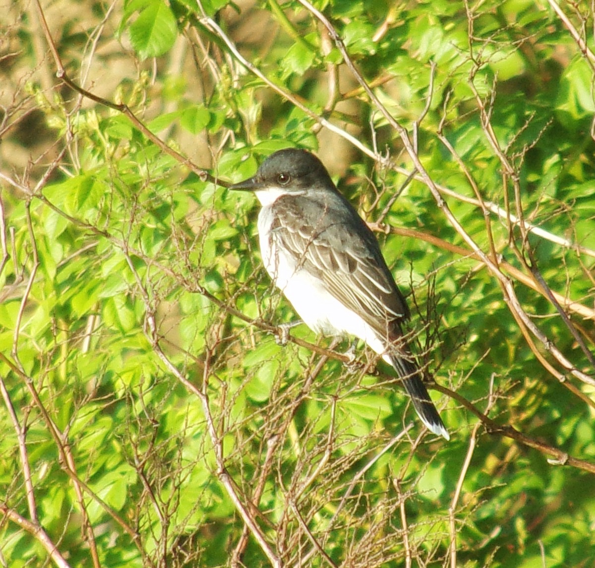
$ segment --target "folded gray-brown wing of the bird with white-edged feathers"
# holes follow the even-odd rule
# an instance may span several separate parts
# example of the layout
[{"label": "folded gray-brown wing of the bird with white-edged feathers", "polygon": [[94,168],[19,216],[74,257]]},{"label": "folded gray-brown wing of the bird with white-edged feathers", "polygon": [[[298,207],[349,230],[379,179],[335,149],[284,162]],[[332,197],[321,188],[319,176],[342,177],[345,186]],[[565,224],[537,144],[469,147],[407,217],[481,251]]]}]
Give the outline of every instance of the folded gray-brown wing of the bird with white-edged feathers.
[{"label": "folded gray-brown wing of the bird with white-edged feathers", "polygon": [[409,317],[405,299],[368,226],[339,195],[332,197],[330,203],[328,198],[278,198],[271,238],[380,336],[391,337],[399,321]]}]

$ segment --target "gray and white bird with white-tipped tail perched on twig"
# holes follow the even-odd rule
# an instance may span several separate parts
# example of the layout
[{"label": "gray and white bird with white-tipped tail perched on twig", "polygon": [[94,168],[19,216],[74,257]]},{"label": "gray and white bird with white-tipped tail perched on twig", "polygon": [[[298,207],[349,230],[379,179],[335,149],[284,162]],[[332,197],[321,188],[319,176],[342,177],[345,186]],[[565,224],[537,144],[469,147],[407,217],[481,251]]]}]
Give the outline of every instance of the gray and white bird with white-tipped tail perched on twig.
[{"label": "gray and white bird with white-tipped tail perched on twig", "polygon": [[405,297],[374,233],[320,159],[308,150],[278,150],[229,189],[258,198],[262,261],[302,321],[315,333],[366,343],[392,365],[425,426],[449,440],[406,343]]}]

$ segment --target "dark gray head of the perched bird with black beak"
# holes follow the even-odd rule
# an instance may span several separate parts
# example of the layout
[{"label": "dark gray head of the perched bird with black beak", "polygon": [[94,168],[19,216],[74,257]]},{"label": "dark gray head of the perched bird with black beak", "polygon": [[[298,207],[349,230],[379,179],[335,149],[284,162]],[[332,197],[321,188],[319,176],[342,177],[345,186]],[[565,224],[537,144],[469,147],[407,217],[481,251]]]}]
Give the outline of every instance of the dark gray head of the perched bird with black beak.
[{"label": "dark gray head of the perched bird with black beak", "polygon": [[335,190],[322,162],[307,150],[288,148],[271,154],[252,178],[231,185],[230,190],[254,191],[265,204],[280,194],[305,193],[323,187]]}]

